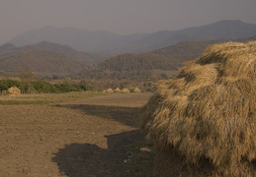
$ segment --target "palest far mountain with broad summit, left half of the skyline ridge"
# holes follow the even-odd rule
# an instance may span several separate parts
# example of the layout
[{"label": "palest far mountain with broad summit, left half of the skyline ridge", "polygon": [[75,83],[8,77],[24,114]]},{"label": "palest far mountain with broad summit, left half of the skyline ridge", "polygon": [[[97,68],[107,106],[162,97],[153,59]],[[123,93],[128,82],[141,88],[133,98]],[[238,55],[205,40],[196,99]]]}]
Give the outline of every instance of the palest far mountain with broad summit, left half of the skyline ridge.
[{"label": "palest far mountain with broad summit, left half of the skyline ridge", "polygon": [[119,37],[119,35],[108,31],[90,31],[87,29],[47,26],[18,35],[10,43],[16,46],[23,46],[41,41],[49,41],[66,44],[83,51],[95,51],[95,48],[103,48],[102,51],[104,51],[106,43],[111,42],[116,37]]}]

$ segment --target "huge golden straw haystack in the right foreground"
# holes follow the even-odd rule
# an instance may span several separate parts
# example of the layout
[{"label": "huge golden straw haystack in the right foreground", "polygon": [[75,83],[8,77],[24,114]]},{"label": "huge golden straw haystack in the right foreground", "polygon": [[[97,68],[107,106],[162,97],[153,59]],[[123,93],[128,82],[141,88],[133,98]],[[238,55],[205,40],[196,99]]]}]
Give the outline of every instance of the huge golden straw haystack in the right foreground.
[{"label": "huge golden straw haystack in the right foreground", "polygon": [[256,41],[210,46],[142,110],[155,176],[256,176]]}]

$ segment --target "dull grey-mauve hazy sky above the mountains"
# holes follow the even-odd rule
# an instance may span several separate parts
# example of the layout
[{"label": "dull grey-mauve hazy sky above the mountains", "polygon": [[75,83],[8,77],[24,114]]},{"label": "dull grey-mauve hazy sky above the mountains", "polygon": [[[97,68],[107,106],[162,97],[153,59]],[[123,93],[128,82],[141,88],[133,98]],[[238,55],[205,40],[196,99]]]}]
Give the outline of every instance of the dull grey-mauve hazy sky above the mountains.
[{"label": "dull grey-mauve hazy sky above the mountains", "polygon": [[0,44],[44,26],[128,34],[220,20],[256,24],[256,0],[0,0]]}]

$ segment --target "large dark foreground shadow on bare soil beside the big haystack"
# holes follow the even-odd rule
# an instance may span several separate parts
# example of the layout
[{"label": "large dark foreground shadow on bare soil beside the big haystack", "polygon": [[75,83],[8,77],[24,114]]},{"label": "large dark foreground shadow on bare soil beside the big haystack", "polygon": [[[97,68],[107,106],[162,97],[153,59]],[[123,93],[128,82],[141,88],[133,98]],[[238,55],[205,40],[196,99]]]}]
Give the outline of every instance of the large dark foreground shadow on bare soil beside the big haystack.
[{"label": "large dark foreground shadow on bare soil beside the big haystack", "polygon": [[142,142],[139,130],[105,136],[108,148],[91,144],[70,144],[59,149],[52,161],[58,165],[60,173],[69,177],[113,177],[130,176],[120,168],[128,157],[128,145]]}]

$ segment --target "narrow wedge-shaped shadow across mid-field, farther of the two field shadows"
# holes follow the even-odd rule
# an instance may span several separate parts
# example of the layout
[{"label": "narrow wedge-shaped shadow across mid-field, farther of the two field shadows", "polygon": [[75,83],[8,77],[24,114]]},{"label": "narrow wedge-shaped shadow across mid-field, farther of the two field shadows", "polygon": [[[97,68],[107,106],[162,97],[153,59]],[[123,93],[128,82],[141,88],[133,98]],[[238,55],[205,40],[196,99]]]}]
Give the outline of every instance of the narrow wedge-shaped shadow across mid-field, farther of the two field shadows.
[{"label": "narrow wedge-shaped shadow across mid-field, farther of the two field shadows", "polygon": [[139,127],[140,107],[122,107],[94,104],[58,104],[55,106],[82,110],[85,114],[111,119],[130,127]]}]

